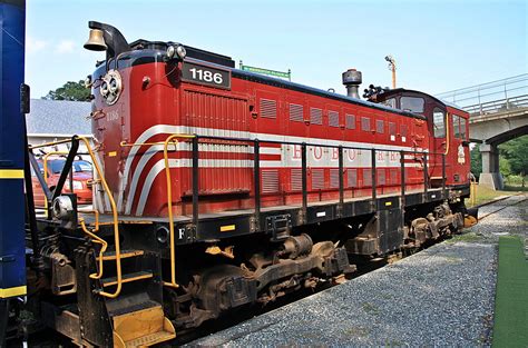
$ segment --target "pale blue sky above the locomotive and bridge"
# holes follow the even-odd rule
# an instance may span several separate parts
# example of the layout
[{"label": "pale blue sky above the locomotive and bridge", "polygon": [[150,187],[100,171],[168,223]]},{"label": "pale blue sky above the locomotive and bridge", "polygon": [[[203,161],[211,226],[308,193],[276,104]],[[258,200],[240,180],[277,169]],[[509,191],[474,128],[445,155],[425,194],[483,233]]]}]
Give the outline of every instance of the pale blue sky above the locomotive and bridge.
[{"label": "pale blue sky above the locomotive and bridge", "polygon": [[390,87],[388,54],[398,87],[431,95],[528,72],[528,0],[27,0],[26,16],[31,98],[84,80],[105,58],[82,48],[89,20],[128,42],[180,42],[340,93],[350,68],[362,88]]}]

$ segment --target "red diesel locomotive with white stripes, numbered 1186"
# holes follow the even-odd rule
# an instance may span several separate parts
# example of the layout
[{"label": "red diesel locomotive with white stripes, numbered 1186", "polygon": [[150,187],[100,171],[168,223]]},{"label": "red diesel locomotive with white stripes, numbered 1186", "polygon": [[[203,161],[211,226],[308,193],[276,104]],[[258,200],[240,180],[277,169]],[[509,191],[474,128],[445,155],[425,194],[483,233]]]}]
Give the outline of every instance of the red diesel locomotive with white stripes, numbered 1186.
[{"label": "red diesel locomotive with white stripes, numbered 1186", "polygon": [[41,236],[55,285],[41,315],[75,341],[166,341],[463,226],[465,111],[405,89],[361,100],[355,70],[342,96],[89,27],[85,48],[106,52],[87,81],[95,211],[59,182],[39,221],[57,236]]}]

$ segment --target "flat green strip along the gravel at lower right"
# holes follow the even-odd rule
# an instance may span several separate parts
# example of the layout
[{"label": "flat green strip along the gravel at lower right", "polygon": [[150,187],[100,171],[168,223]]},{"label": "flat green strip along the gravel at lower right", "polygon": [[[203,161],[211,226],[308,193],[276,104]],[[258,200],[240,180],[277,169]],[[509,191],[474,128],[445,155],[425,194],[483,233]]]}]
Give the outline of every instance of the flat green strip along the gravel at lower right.
[{"label": "flat green strip along the gravel at lower right", "polygon": [[528,261],[518,237],[499,238],[493,347],[528,347]]}]

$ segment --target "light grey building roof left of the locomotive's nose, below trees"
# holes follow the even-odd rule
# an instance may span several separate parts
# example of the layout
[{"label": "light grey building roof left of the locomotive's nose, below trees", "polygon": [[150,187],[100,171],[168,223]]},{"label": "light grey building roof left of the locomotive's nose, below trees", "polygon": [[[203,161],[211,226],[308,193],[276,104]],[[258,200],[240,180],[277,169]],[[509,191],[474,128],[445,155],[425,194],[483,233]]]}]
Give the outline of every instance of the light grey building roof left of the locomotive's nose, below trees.
[{"label": "light grey building roof left of the locomotive's nose, below trees", "polygon": [[91,103],[86,101],[31,99],[28,135],[91,135],[90,111]]}]

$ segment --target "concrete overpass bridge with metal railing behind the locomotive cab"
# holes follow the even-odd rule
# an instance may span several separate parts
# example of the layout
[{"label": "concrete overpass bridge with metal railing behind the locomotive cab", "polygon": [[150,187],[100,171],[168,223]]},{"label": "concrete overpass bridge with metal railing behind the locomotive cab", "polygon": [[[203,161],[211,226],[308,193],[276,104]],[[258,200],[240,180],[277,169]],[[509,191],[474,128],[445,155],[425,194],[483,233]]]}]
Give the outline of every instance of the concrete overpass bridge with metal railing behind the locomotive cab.
[{"label": "concrete overpass bridge with metal railing behind the locomotive cab", "polygon": [[528,135],[528,73],[457,89],[437,97],[470,113],[470,140],[479,143],[482,153],[479,182],[501,189],[503,182],[497,147]]}]

